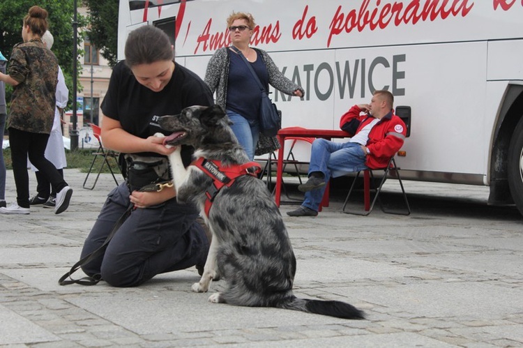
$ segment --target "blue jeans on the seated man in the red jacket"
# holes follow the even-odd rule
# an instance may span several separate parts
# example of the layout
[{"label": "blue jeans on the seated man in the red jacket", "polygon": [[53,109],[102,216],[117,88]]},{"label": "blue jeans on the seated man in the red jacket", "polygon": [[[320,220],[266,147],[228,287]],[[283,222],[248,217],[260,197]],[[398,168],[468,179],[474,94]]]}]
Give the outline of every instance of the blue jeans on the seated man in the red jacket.
[{"label": "blue jeans on the seated man in the red jacket", "polygon": [[[325,181],[350,172],[367,169],[365,153],[361,145],[354,142],[331,142],[326,139],[316,139],[310,151],[309,174],[322,172]],[[301,204],[318,211],[321,199],[324,197],[325,186],[317,190],[305,192],[305,200]]]}]

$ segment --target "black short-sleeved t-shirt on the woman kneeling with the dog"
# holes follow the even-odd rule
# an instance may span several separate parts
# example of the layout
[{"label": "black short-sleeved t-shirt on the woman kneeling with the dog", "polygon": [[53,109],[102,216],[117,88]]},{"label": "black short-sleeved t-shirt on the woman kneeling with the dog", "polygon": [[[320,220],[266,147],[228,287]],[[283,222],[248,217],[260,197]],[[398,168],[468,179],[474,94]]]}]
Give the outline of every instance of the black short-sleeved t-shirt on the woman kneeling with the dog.
[{"label": "black short-sleeved t-shirt on the woman kneeling with the dog", "polygon": [[[125,61],[114,66],[107,94],[102,102],[104,116],[121,123],[126,132],[146,139],[155,133],[169,135],[158,126],[158,117],[180,114],[192,105],[213,105],[209,86],[195,73],[176,64],[171,80],[162,91],[154,92],[139,84]],[[192,148],[183,146],[185,165],[190,161]],[[150,156],[161,156],[149,153]]]}]

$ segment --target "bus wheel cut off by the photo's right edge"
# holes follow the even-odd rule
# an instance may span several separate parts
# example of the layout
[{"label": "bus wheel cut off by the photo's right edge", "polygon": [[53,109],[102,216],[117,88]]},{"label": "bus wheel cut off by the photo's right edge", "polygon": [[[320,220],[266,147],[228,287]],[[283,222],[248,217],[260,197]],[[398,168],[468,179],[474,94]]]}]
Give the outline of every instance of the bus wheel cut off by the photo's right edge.
[{"label": "bus wheel cut off by the photo's right edge", "polygon": [[523,118],[517,123],[508,147],[508,187],[523,214]]}]

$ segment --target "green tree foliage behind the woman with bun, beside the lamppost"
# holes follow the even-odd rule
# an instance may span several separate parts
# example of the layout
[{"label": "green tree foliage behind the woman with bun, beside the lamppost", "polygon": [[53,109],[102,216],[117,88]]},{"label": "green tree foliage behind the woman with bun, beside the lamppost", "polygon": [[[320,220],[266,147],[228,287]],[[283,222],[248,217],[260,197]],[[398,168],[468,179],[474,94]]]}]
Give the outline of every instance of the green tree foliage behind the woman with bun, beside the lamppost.
[{"label": "green tree foliage behind the woman with bun, beside the lamppost", "polygon": [[[82,66],[77,57],[73,57],[73,0],[1,0],[0,1],[0,51],[9,59],[13,46],[22,42],[22,22],[29,8],[38,4],[45,8],[49,17],[49,31],[54,37],[52,51],[58,58],[69,91],[73,91],[73,64],[77,64],[77,75],[81,73]],[[86,18],[77,15],[78,29],[86,27]],[[78,42],[82,39],[79,30]],[[82,54],[82,50],[77,51]],[[6,100],[10,100],[11,89],[6,88]],[[70,95],[69,100],[72,100]]]}]

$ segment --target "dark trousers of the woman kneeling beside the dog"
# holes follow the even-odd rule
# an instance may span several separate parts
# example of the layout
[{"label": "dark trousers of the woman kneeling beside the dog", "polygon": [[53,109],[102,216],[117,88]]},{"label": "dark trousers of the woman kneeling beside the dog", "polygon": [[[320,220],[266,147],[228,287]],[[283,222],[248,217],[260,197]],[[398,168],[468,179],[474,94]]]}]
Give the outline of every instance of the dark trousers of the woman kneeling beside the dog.
[{"label": "dark trousers of the woman kneeling beside the dog", "polygon": [[[82,258],[103,245],[115,222],[126,211],[130,192],[125,183],[107,197]],[[209,242],[195,222],[197,210],[176,198],[147,209],[135,209],[107,245],[105,254],[82,266],[87,275],[100,274],[115,287],[134,287],[159,273],[204,265]]]}]

